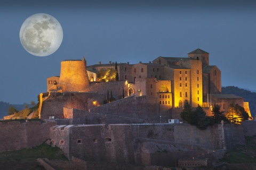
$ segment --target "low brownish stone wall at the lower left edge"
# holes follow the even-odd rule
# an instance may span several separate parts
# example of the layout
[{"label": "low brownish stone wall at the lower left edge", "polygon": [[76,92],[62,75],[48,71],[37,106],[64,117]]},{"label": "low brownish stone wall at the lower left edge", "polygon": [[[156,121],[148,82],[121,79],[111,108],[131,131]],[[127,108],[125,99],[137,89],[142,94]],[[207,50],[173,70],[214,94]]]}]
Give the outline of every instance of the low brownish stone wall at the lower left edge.
[{"label": "low brownish stone wall at the lower left edge", "polygon": [[41,145],[50,138],[50,127],[56,122],[0,122],[0,152]]}]

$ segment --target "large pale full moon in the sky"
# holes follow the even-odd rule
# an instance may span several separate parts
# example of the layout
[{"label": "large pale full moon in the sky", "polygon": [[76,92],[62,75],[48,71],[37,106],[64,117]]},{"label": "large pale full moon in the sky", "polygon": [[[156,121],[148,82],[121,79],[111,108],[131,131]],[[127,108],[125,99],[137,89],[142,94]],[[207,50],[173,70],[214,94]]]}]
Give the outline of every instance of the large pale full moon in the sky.
[{"label": "large pale full moon in the sky", "polygon": [[49,14],[38,13],[29,16],[20,28],[20,42],[28,53],[47,56],[61,45],[63,31],[57,19]]}]

